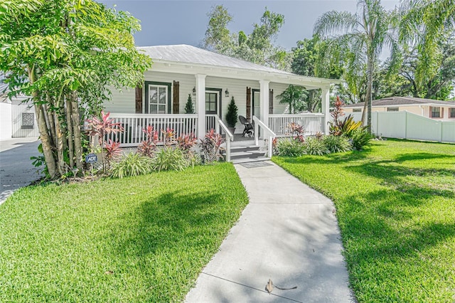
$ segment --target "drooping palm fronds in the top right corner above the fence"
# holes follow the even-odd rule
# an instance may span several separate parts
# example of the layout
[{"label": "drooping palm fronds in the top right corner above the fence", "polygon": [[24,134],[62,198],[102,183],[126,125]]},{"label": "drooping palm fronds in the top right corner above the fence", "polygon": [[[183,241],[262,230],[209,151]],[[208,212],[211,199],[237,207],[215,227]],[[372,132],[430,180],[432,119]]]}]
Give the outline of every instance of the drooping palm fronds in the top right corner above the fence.
[{"label": "drooping palm fronds in the top right corner above the fence", "polygon": [[441,66],[441,41],[455,28],[455,1],[405,0],[400,14],[400,41],[417,48],[415,80],[422,87]]}]

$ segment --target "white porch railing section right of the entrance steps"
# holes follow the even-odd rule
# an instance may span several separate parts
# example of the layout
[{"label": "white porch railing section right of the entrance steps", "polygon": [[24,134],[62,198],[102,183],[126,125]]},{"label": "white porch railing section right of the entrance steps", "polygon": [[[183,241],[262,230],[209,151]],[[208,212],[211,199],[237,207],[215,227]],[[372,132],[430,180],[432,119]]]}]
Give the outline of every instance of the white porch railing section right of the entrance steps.
[{"label": "white porch railing section right of the entrance steps", "polygon": [[322,113],[302,115],[269,115],[269,128],[277,134],[277,137],[289,136],[289,124],[294,122],[304,127],[305,135],[313,135],[324,132],[324,115]]}]

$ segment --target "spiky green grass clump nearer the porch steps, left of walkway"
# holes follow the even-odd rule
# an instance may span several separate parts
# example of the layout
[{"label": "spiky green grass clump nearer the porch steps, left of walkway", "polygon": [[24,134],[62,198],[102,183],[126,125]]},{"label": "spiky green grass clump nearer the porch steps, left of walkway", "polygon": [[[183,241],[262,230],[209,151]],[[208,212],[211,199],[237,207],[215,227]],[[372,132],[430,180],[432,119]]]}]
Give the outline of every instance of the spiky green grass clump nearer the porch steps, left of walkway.
[{"label": "spiky green grass clump nearer the porch steps, left of walkway", "polygon": [[182,171],[189,163],[181,149],[163,147],[151,158],[151,166],[155,171]]}]

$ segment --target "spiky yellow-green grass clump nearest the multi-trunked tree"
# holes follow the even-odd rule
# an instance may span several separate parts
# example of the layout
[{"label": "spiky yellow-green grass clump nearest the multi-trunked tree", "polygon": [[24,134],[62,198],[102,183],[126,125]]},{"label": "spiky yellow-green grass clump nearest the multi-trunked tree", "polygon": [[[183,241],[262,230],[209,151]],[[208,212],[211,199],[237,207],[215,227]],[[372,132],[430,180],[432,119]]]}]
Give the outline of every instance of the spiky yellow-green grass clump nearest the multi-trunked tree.
[{"label": "spiky yellow-green grass clump nearest the multi-trunked tree", "polygon": [[126,176],[139,176],[149,174],[153,170],[151,159],[138,153],[129,153],[122,156],[119,161],[113,161],[109,175],[112,178]]}]

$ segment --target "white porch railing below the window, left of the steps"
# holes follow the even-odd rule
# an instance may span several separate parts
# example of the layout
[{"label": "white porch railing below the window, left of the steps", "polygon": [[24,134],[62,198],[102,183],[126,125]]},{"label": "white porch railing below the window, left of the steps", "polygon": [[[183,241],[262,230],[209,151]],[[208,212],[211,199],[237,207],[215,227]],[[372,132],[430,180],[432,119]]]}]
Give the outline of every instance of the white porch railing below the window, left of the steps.
[{"label": "white porch railing below the window, left of the steps", "polygon": [[[198,134],[198,115],[146,115],[146,114],[110,114],[114,122],[122,124],[124,132],[109,134],[109,139],[120,142],[121,147],[137,147],[145,139],[142,129],[148,125],[159,132],[166,128],[174,130],[176,136],[181,134]],[[163,139],[160,137],[160,139]]]}]

